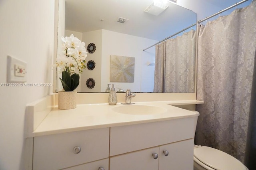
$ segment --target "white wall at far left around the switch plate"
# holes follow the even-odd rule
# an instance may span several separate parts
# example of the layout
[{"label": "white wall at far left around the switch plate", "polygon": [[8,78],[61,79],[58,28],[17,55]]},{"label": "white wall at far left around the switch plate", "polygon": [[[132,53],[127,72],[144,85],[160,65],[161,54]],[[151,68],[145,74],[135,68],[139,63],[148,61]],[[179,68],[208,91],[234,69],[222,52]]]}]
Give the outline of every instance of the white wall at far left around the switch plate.
[{"label": "white wall at far left around the switch plate", "polygon": [[[7,55],[27,62],[27,83],[52,83],[54,0],[1,0],[0,23],[0,84],[7,83]],[[0,86],[0,170],[25,169],[26,105],[51,91]]]}]

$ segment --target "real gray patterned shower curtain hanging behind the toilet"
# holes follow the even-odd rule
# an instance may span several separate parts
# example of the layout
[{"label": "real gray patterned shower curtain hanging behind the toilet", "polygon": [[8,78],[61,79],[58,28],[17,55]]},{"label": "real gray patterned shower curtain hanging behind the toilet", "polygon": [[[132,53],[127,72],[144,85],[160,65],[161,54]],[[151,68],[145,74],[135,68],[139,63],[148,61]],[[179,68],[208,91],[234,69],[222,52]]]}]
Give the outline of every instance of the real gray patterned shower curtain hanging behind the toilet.
[{"label": "real gray patterned shower curtain hanging behind the toilet", "polygon": [[[256,2],[200,26],[195,144],[246,162],[252,120]],[[255,141],[256,142],[256,141]]]}]

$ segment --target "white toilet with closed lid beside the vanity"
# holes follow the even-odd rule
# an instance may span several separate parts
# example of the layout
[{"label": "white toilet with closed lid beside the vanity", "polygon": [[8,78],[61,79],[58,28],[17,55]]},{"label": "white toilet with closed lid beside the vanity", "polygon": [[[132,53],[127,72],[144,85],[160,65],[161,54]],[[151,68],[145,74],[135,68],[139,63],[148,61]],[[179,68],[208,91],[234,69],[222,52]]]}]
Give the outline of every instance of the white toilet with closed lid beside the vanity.
[{"label": "white toilet with closed lid beside the vanity", "polygon": [[[195,119],[194,134],[197,119],[198,117]],[[248,170],[248,168],[233,156],[218,149],[194,145],[194,170]]]}]

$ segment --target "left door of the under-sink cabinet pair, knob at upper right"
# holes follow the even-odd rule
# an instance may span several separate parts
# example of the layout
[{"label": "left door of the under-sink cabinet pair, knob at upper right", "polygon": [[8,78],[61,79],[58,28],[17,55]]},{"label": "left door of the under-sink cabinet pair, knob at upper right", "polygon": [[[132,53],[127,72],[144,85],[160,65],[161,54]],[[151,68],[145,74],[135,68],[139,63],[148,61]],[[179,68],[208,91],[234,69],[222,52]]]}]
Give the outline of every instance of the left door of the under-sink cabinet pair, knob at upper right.
[{"label": "left door of the under-sink cabinet pair, knob at upper right", "polygon": [[152,156],[158,152],[159,147],[154,147],[110,157],[110,170],[158,170],[159,158]]}]

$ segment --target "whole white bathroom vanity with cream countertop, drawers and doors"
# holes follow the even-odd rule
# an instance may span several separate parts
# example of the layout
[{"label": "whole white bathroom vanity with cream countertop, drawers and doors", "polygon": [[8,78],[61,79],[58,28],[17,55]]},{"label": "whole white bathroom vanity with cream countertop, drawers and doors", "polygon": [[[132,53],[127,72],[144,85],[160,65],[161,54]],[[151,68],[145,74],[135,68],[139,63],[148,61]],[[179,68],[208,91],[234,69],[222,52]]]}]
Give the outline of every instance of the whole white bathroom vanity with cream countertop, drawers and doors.
[{"label": "whole white bathroom vanity with cream countertop, drawers and doors", "polygon": [[28,133],[31,169],[192,170],[198,115],[170,103],[54,107]]}]

